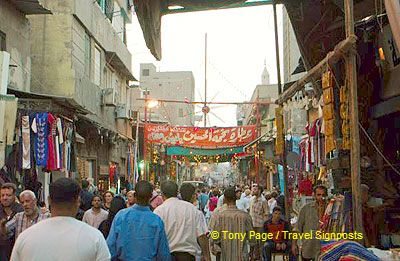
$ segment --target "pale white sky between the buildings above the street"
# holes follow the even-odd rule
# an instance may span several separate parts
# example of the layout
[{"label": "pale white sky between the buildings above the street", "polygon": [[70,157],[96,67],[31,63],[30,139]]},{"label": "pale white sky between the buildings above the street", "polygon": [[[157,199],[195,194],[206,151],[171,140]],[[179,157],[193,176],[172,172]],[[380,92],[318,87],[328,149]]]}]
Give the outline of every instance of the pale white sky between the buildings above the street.
[{"label": "pale white sky between the buildings above the street", "polygon": [[[282,48],[282,7],[277,10]],[[256,85],[261,84],[264,63],[271,83],[277,82],[272,5],[166,15],[162,17],[161,33],[162,60],[156,61],[133,14],[127,40],[137,79],[140,63],[154,63],[158,71],[192,71],[196,101],[203,101],[207,33],[208,101],[249,100]],[[282,50],[280,57],[282,67]],[[217,107],[211,107],[218,116],[209,114],[211,126],[236,126],[236,106]]]}]

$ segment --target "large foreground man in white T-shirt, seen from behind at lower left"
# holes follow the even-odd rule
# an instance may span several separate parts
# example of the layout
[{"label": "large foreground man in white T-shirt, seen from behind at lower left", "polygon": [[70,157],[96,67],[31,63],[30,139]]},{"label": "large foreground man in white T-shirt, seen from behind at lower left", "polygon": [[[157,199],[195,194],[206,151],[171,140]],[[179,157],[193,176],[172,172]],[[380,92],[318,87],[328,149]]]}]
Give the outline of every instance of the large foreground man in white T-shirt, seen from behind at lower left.
[{"label": "large foreground man in white T-shirt, seen from behind at lower left", "polygon": [[110,252],[101,232],[75,219],[80,187],[73,179],[50,184],[51,218],[26,229],[15,242],[12,261],[106,261]]}]

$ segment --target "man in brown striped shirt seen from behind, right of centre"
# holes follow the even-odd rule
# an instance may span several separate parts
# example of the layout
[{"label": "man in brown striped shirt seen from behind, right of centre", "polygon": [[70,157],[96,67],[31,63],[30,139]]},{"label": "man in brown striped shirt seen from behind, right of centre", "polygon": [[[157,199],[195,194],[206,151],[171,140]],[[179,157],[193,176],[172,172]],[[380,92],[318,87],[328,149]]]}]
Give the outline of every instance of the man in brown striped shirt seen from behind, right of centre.
[{"label": "man in brown striped shirt seen from behind, right of centre", "polygon": [[[253,230],[251,217],[248,213],[237,209],[235,187],[229,187],[224,192],[225,208],[211,216],[211,233],[220,235],[216,239],[211,238],[212,253],[217,260],[245,261],[249,260],[248,244],[253,245],[253,239],[249,237]],[[244,238],[223,238],[222,231],[229,231],[236,235],[244,235]]]}]

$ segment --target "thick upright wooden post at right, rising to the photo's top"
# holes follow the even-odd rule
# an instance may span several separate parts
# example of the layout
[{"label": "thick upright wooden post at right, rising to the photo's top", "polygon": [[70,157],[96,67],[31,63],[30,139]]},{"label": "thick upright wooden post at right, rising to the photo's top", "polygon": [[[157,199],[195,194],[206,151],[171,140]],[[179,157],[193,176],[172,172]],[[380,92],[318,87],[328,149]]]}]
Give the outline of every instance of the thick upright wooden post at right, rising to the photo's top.
[{"label": "thick upright wooden post at right, rising to the photo's top", "polygon": [[[353,0],[344,0],[346,37],[354,35]],[[358,129],[357,63],[355,52],[349,52],[346,76],[349,87],[351,137],[351,188],[353,199],[353,229],[363,232],[360,184],[360,133]]]}]

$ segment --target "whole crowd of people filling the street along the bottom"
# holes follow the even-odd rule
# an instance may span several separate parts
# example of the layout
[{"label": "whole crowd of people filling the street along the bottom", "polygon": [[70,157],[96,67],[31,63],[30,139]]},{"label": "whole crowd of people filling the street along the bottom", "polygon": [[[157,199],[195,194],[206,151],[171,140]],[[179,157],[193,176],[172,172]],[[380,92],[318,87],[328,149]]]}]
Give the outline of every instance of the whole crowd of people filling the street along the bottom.
[{"label": "whole crowd of people filling the street along the bottom", "polygon": [[[1,260],[290,260],[295,240],[283,237],[292,226],[284,219],[284,199],[261,186],[196,189],[173,181],[153,186],[139,181],[117,195],[83,180],[61,178],[50,185],[49,207],[39,207],[32,191],[16,197],[14,184],[1,186]],[[315,231],[324,213],[327,190],[314,189],[315,202],[300,211],[296,230]],[[224,238],[223,231],[245,235]],[[218,233],[218,237],[210,233]],[[253,233],[272,233],[267,240]],[[317,240],[302,243],[303,260],[316,260]]]}]

